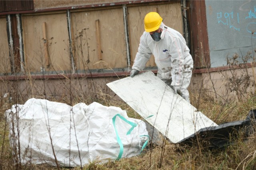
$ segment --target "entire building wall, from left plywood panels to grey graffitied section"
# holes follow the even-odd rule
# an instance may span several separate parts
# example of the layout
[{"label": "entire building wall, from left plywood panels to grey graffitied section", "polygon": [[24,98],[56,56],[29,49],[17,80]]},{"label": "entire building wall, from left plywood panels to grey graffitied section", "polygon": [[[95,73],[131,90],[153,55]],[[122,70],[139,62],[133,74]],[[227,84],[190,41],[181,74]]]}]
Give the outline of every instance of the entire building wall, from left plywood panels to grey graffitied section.
[{"label": "entire building wall, from left plywood panels to grey graffitied section", "polygon": [[[187,10],[181,7],[180,1],[143,1],[143,3],[136,1],[134,4],[122,4],[122,2],[126,1],[35,0],[34,11],[20,14],[25,70],[18,72],[18,75],[11,74],[6,15],[1,16],[0,29],[6,31],[0,32],[0,60],[3,61],[0,62],[0,95],[14,92],[18,88],[18,92],[22,95],[45,95],[46,98],[72,96],[78,99],[88,98],[94,94],[115,96],[106,83],[129,75],[140,36],[144,31],[143,18],[148,12],[158,12],[166,25],[182,34],[184,33],[182,20],[186,17],[184,13],[186,11],[195,10],[196,21],[201,22],[201,26],[205,25],[204,20],[200,21],[200,17],[204,15],[200,10],[202,8],[200,6],[204,4],[202,2],[194,1]],[[97,5],[94,6],[93,4],[96,3]],[[256,44],[255,33],[252,34],[250,31],[256,23],[254,4],[210,0],[206,0],[205,4],[211,67],[227,65],[226,57],[232,58],[234,53],[246,56],[247,51],[253,49]],[[125,9],[127,13],[124,13]],[[127,16],[124,16],[126,14]],[[15,14],[11,15],[12,18],[16,17]],[[68,15],[70,15],[70,28],[68,28]],[[126,46],[125,17],[128,25],[129,55]],[[186,20],[188,23],[191,22],[191,18]],[[193,24],[197,25],[198,22]],[[202,29],[198,27],[196,34],[200,32]],[[201,40],[203,39],[204,36],[201,36]],[[201,41],[198,41],[198,46],[194,44],[194,52],[201,46]],[[204,59],[202,56],[204,53],[204,51],[199,53],[200,60]],[[206,65],[201,63],[197,68]],[[147,66],[147,69],[156,72],[153,57]],[[86,74],[73,79],[72,76],[76,74],[66,74],[72,72],[72,69],[78,74]],[[248,75],[251,80],[255,80],[252,70],[248,68]],[[237,86],[237,89],[232,89],[232,84],[230,85],[233,73],[236,73],[236,80],[244,81],[240,78],[245,75],[243,69],[232,72],[227,67],[222,71],[210,69],[208,71],[194,70],[190,84],[191,92],[204,90],[220,100],[243,95],[242,90],[239,89],[242,85]],[[112,74],[106,75],[106,73]],[[240,84],[244,85],[246,81]],[[253,82],[248,86],[248,91],[253,89],[251,85]]]}]

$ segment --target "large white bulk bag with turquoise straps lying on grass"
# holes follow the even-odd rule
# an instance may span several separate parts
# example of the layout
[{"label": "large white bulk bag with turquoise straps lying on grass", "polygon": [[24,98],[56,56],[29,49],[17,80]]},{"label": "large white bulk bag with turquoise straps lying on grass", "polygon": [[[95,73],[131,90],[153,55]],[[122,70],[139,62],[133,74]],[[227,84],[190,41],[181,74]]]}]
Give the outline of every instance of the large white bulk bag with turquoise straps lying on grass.
[{"label": "large white bulk bag with turquoise straps lying on grass", "polygon": [[59,166],[74,167],[128,158],[140,154],[148,141],[143,121],[129,118],[119,107],[96,102],[72,107],[31,98],[24,105],[13,105],[5,114],[10,145],[18,152],[19,142],[24,164],[56,166],[56,158]]}]

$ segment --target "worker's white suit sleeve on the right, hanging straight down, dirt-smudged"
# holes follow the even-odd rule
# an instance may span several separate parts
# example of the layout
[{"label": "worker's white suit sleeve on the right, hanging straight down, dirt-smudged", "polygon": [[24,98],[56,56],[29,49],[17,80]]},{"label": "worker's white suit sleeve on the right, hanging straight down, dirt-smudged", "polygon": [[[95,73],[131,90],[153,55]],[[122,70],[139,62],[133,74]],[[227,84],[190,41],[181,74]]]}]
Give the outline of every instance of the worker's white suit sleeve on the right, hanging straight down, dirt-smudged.
[{"label": "worker's white suit sleeve on the right, hanging straight down, dirt-smudged", "polygon": [[170,44],[170,55],[171,55],[171,75],[172,83],[171,86],[181,86],[183,76],[183,67],[184,67],[184,54],[182,50],[182,42],[178,37],[172,37],[172,42]]}]

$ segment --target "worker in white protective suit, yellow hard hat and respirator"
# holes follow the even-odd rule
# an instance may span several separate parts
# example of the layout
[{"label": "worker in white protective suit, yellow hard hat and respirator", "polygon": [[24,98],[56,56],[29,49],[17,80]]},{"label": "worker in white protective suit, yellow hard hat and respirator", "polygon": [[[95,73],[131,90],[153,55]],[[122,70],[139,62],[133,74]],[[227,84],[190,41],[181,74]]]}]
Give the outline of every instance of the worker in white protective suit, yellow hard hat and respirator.
[{"label": "worker in white protective suit, yellow hard hat and respirator", "polygon": [[143,70],[153,54],[157,76],[190,103],[188,86],[192,77],[193,59],[184,37],[176,30],[167,27],[156,12],[146,14],[145,31],[140,37],[130,76]]}]

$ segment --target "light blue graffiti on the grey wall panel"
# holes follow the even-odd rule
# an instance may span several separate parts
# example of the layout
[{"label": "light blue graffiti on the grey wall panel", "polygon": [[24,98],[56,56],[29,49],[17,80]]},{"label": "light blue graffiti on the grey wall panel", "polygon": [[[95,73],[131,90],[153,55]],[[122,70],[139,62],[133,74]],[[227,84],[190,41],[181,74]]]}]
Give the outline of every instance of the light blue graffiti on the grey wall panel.
[{"label": "light blue graffiti on the grey wall panel", "polygon": [[[218,24],[226,25],[235,31],[246,31],[250,34],[253,33],[254,36],[252,37],[256,38],[256,6],[252,7],[245,17],[241,16],[242,15],[239,12],[217,12]],[[241,21],[245,21],[246,25],[241,24]]]}]

